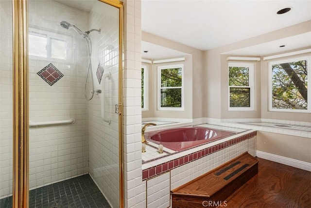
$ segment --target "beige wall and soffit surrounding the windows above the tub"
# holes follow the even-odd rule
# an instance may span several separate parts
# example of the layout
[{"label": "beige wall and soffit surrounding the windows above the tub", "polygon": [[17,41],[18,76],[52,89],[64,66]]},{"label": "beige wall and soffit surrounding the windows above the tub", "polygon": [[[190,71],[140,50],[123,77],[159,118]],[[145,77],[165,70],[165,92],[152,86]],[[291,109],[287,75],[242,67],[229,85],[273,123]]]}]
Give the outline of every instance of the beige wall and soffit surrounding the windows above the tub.
[{"label": "beige wall and soffit surrounding the windows above the tub", "polygon": [[[190,74],[185,76],[187,79],[187,81],[185,81],[185,89],[187,89],[185,91],[185,111],[181,113],[180,111],[160,112],[156,110],[156,97],[154,96],[156,95],[156,72],[154,72],[156,71],[156,67],[155,65],[150,65],[149,86],[151,87],[149,87],[149,91],[151,90],[152,92],[149,92],[149,111],[142,112],[142,116],[173,118],[208,117],[222,119],[268,118],[311,122],[310,113],[281,113],[268,111],[268,63],[263,60],[253,62],[255,67],[255,110],[246,112],[228,111],[228,61],[226,57],[230,55],[224,55],[227,51],[251,47],[310,31],[311,20],[205,52],[176,43],[172,40],[142,32],[143,41],[187,53],[190,55],[189,58],[192,58],[192,63],[190,65],[187,63],[187,61],[189,61],[188,57],[184,62],[185,70],[186,65],[187,70],[191,70],[191,73],[187,71],[187,73],[189,72]],[[151,71],[153,72],[151,73]],[[190,92],[190,94],[188,92]]]}]

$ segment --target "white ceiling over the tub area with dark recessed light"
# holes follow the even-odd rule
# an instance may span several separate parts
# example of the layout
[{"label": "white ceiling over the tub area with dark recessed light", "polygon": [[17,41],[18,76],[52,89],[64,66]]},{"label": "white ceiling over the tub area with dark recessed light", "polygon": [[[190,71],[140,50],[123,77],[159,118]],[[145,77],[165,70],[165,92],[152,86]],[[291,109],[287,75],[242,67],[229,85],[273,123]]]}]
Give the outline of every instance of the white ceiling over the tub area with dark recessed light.
[{"label": "white ceiling over the tub area with dark recessed light", "polygon": [[[276,15],[286,7],[292,10]],[[142,31],[205,51],[310,20],[311,0],[141,0],[141,19]],[[230,54],[260,56],[306,46],[310,33]]]}]

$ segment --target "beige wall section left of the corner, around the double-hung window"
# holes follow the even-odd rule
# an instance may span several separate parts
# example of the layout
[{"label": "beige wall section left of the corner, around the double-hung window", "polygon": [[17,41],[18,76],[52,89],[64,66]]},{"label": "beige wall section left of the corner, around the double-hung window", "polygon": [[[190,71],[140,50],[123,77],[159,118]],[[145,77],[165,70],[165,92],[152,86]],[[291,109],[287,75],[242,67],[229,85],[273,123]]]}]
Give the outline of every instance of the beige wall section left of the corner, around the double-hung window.
[{"label": "beige wall section left of the corner, around the double-hung window", "polygon": [[[185,61],[149,64],[148,73],[148,111],[142,112],[142,117],[167,117],[167,118],[200,118],[203,117],[203,51],[189,46],[160,38],[142,32],[142,40],[156,45],[167,47],[176,51],[189,54]],[[167,57],[173,58],[173,57]],[[157,110],[157,66],[170,64],[184,64],[184,111],[158,111]],[[150,92],[151,90],[151,92]]]}]

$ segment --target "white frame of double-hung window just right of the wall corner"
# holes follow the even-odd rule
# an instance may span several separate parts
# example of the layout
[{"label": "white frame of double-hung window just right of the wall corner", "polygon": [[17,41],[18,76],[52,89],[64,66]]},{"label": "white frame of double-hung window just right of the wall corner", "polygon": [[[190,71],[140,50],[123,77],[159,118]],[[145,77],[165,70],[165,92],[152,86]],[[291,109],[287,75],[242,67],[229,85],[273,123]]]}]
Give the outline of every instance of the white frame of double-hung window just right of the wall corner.
[{"label": "white frame of double-hung window just right of the wall corner", "polygon": [[[229,67],[248,67],[248,85],[249,86],[230,86],[229,85]],[[254,80],[254,64],[243,62],[228,63],[228,111],[255,111],[255,80]],[[250,88],[250,107],[230,107],[230,88]]]}]

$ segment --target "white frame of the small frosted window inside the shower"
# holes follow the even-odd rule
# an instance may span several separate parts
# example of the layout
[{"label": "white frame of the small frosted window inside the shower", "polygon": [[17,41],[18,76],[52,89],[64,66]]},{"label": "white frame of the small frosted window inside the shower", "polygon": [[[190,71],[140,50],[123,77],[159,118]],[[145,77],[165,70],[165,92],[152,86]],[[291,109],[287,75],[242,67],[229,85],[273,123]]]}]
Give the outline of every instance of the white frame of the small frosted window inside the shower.
[{"label": "white frame of the small frosted window inside the shower", "polygon": [[[44,29],[37,29],[34,27],[29,27],[29,35],[39,36],[39,37],[45,37],[47,38],[47,57],[37,57],[37,56],[31,56],[29,55],[29,58],[31,59],[37,59],[37,60],[47,60],[47,61],[57,61],[62,63],[72,63],[73,62],[73,38],[68,35],[60,34],[60,33],[54,33],[48,30]],[[61,58],[52,58],[52,41],[51,39],[57,39],[61,41],[65,41],[66,44],[66,59]],[[31,44],[31,43],[30,43]]]}]

